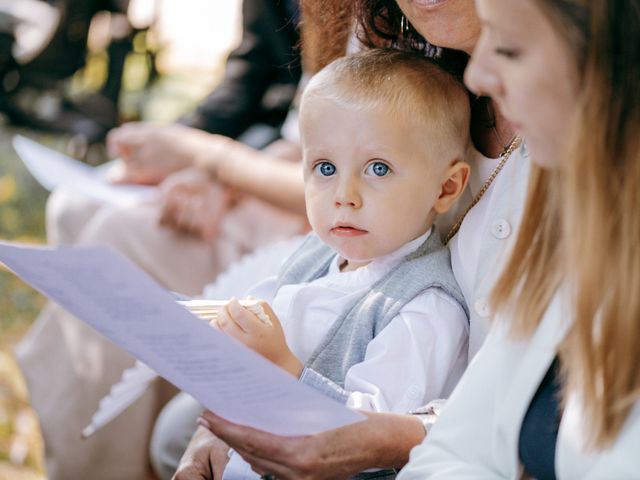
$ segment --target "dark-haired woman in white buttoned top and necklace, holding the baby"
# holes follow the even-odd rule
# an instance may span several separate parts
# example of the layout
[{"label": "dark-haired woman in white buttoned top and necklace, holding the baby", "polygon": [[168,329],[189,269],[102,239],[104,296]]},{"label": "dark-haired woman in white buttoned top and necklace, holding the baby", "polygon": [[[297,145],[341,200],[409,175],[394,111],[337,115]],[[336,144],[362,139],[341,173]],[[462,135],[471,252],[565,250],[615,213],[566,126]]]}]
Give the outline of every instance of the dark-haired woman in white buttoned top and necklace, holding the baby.
[{"label": "dark-haired woman in white buttoned top and necklace, holding the baby", "polygon": [[[307,68],[344,53],[337,40],[349,32],[369,47],[422,50],[447,69],[462,73],[480,34],[473,0],[339,0],[303,2]],[[355,26],[353,18],[358,18]],[[346,32],[346,34],[345,34]],[[334,42],[322,42],[331,38]],[[317,48],[320,46],[321,48]],[[342,46],[344,47],[344,45]],[[528,155],[514,127],[495,105],[472,98],[473,141],[470,191],[462,211],[445,228],[454,273],[471,312],[469,358],[489,328],[488,297],[499,265],[515,237],[526,193]],[[256,471],[280,479],[393,478],[409,451],[425,437],[431,415],[372,414],[360,424],[320,435],[284,438],[228,423],[206,413],[215,438],[198,429],[176,478],[213,477],[228,445]],[[222,440],[221,440],[222,439]]]}]

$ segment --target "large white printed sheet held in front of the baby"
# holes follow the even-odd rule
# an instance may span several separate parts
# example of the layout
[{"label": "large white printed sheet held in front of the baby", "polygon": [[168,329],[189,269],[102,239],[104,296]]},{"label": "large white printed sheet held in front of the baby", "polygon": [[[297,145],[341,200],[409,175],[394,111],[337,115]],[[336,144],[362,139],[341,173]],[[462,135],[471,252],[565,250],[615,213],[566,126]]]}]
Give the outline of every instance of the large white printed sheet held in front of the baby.
[{"label": "large white printed sheet held in front of the baby", "polygon": [[106,248],[0,242],[0,262],[232,422],[307,435],[364,419],[210,327]]}]

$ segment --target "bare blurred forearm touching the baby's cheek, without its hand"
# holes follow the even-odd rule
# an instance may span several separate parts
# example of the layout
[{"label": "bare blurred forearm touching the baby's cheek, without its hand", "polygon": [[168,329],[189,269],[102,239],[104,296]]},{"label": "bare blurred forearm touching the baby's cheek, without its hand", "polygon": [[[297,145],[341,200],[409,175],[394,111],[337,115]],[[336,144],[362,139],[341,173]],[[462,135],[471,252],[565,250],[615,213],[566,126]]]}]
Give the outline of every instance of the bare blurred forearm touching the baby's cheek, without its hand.
[{"label": "bare blurred forearm touching the baby's cheek, without its hand", "polygon": [[302,166],[256,151],[238,142],[228,144],[228,154],[215,160],[203,157],[201,165],[218,181],[292,213],[306,213]]}]

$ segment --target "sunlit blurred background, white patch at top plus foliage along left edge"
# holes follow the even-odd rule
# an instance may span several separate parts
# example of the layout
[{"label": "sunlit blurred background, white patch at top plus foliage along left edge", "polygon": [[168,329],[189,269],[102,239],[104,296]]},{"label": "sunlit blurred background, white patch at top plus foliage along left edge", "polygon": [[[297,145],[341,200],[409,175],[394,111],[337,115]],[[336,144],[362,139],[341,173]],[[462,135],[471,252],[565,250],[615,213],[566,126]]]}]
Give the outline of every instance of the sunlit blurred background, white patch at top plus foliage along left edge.
[{"label": "sunlit blurred background, white patch at top plus foliage along left edge", "polygon": [[[0,11],[19,1],[0,0]],[[189,111],[220,81],[224,60],[239,40],[240,0],[132,0],[127,16],[134,27],[150,28],[134,38],[125,63],[121,119],[168,122]],[[72,95],[96,91],[105,81],[109,20],[106,13],[94,18],[86,66],[68,82]],[[151,76],[154,69],[157,76]],[[46,192],[11,148],[11,137],[18,132],[65,152],[72,139],[0,120],[0,240],[43,242]],[[90,160],[98,163],[104,155],[99,149]],[[42,304],[42,298],[0,267],[0,480],[46,478],[37,420],[11,356],[12,345]]]}]

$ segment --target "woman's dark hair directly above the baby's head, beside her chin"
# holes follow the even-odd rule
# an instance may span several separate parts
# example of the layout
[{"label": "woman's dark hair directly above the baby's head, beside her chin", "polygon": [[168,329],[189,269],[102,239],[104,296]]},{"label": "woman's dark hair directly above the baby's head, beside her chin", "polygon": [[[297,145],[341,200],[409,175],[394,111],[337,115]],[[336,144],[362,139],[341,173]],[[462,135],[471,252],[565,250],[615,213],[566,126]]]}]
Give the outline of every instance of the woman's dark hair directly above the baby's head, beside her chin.
[{"label": "woman's dark hair directly above the baby's head, beside her chin", "polygon": [[462,78],[469,56],[427,42],[406,19],[395,0],[354,0],[358,39],[368,47],[391,47],[422,53]]}]

